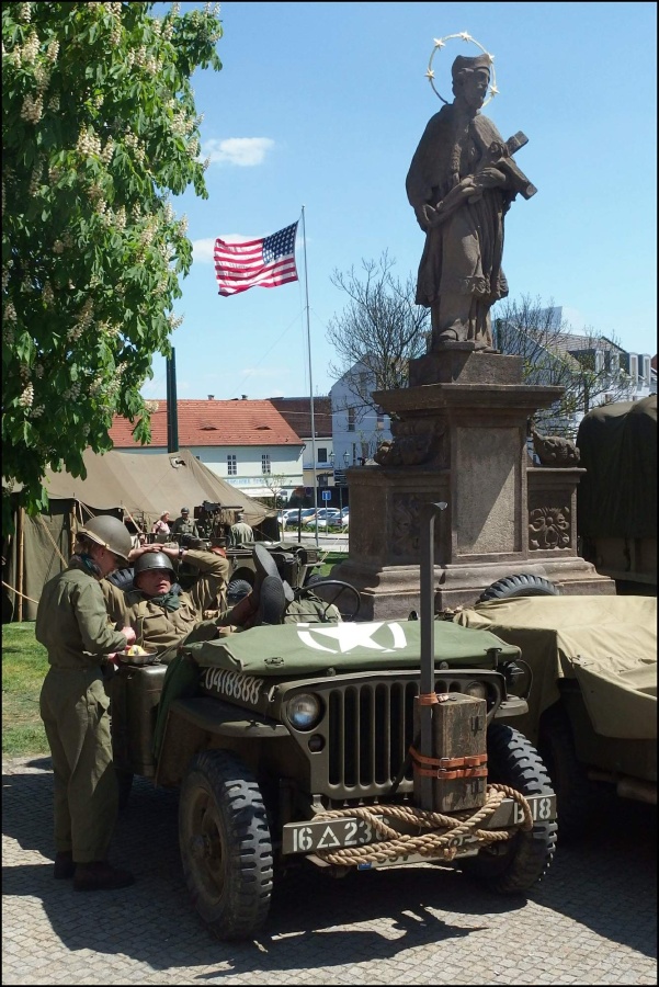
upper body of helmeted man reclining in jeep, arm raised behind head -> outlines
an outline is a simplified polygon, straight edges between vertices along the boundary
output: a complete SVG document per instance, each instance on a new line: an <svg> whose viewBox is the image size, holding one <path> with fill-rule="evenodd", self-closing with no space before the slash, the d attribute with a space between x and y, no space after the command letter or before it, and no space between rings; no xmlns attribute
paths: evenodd
<svg viewBox="0 0 659 987"><path fill-rule="evenodd" d="M133 549L130 560L135 563L133 589L124 591L107 580L101 588L112 620L133 627L139 645L158 650L169 648L197 627L205 610L223 611L227 605L229 561L221 548L205 552L178 545L145 545ZM189 591L177 582L177 560L196 574ZM198 633L203 634L204 628Z"/></svg>

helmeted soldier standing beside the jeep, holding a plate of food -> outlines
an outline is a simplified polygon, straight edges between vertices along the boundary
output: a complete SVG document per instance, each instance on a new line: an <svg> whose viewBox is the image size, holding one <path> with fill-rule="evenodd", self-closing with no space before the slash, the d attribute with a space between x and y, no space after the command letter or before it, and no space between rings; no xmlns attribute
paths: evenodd
<svg viewBox="0 0 659 987"><path fill-rule="evenodd" d="M92 519L68 568L44 586L36 613L36 639L50 666L39 711L55 781L54 876L73 877L76 890L127 887L134 880L106 861L118 791L102 666L135 642L135 632L113 629L100 586L129 552L130 535L117 518Z"/></svg>

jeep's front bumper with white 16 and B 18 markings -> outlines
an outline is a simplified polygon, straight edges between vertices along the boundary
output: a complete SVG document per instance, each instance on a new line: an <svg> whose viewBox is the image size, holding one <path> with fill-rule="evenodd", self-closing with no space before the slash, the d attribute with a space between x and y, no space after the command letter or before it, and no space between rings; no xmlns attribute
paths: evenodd
<svg viewBox="0 0 659 987"><path fill-rule="evenodd" d="M549 821L556 818L555 795L529 795L526 796L534 822ZM405 832L406 828L394 825L394 820L385 815L375 816L383 819L393 828ZM519 825L523 814L518 802L504 798L497 810L481 824L481 829L505 829L509 826ZM407 831L412 830L409 827ZM354 816L345 816L341 819L326 819L323 821L286 822L282 828L282 853L314 853L316 850L337 850L340 847L361 847L364 843L373 843L388 839L377 833L371 822ZM474 842L469 837L461 838L459 844Z"/></svg>

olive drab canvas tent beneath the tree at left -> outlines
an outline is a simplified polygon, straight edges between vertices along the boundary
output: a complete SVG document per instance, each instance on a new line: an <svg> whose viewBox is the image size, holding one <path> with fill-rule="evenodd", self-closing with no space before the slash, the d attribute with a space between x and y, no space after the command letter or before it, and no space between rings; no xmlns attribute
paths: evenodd
<svg viewBox="0 0 659 987"><path fill-rule="evenodd" d="M2 566L2 580L24 594L22 620L35 620L43 585L66 568L72 549L72 532L90 517L144 518L150 531L162 511L169 510L172 518L178 518L182 503L192 510L204 501L240 508L252 527L276 515L260 501L225 483L190 450L178 453L111 450L104 455L87 450L83 461L86 479L69 473L47 472L44 485L49 506L35 518L20 512L18 497L12 494L15 534L4 543L7 563ZM19 487L14 486L14 490L18 492ZM18 585L20 568L21 586ZM18 597L3 587L2 622L18 619Z"/></svg>

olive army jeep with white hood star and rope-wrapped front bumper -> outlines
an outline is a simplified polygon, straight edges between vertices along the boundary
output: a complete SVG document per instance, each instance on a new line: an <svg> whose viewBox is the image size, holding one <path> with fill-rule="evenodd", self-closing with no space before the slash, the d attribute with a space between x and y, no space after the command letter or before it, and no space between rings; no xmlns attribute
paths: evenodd
<svg viewBox="0 0 659 987"><path fill-rule="evenodd" d="M420 622L254 627L126 657L111 681L117 770L180 787L185 881L219 938L255 935L300 866L441 863L500 894L546 872L555 794L502 722L527 710L520 649L435 622L432 595Z"/></svg>

